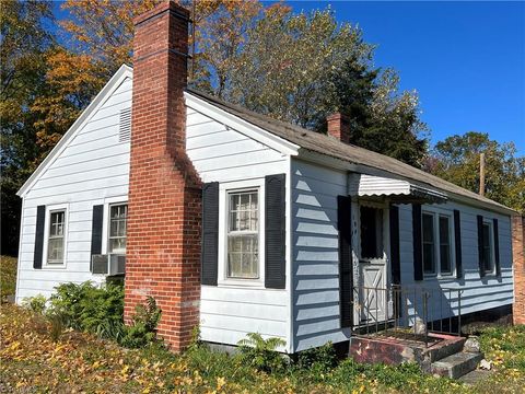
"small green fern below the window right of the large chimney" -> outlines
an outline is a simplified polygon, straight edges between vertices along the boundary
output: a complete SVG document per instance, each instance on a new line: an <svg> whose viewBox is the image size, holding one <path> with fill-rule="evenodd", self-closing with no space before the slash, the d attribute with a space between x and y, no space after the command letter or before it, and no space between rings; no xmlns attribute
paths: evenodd
<svg viewBox="0 0 525 394"><path fill-rule="evenodd" d="M244 362L259 371L278 372L284 369L285 361L276 349L284 344L281 338L265 339L258 333L249 333L237 345Z"/></svg>

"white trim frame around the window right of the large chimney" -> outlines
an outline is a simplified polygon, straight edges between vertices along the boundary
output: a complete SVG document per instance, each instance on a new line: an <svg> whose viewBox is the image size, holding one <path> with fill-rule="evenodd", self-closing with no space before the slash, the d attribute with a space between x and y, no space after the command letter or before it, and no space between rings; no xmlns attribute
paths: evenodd
<svg viewBox="0 0 525 394"><path fill-rule="evenodd" d="M228 194L243 190L257 190L259 194L259 277L254 279L228 277ZM219 184L219 262L217 280L219 287L265 288L265 178Z"/></svg>

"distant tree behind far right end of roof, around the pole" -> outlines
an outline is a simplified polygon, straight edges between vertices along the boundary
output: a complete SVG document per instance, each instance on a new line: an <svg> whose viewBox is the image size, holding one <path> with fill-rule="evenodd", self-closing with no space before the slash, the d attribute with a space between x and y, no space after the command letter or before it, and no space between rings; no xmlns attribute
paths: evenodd
<svg viewBox="0 0 525 394"><path fill-rule="evenodd" d="M479 192L479 154L486 158L486 196L525 212L525 157L513 142L500 143L488 134L469 131L435 144L425 170L471 192Z"/></svg>

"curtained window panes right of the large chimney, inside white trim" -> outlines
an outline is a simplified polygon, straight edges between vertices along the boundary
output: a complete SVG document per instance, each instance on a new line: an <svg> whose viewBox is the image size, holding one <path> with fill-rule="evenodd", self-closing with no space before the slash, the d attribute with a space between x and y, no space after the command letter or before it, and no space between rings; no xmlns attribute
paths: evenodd
<svg viewBox="0 0 525 394"><path fill-rule="evenodd" d="M229 278L259 277L259 204L258 190L228 194L228 267Z"/></svg>

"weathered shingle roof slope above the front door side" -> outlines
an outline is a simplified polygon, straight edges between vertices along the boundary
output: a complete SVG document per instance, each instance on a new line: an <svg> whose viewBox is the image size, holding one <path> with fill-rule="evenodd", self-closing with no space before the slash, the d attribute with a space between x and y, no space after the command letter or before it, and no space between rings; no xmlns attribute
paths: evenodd
<svg viewBox="0 0 525 394"><path fill-rule="evenodd" d="M445 193L451 193L457 196L467 197L476 201L489 204L495 209L499 208L504 210L511 210L510 208L499 202L495 202L489 198L482 197L476 193L454 185L453 183L431 175L422 170L416 169L390 157L376 153L357 146L347 144L331 136L311 131L284 121L276 120L267 115L257 114L242 106L226 103L222 100L219 100L194 89L188 89L188 92L219 107L220 109L235 115L282 139L295 143L302 149L326 154L352 164L360 164L377 169L393 175L413 181L422 186L433 187Z"/></svg>

